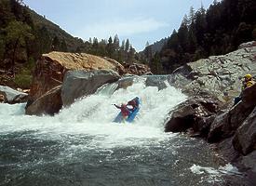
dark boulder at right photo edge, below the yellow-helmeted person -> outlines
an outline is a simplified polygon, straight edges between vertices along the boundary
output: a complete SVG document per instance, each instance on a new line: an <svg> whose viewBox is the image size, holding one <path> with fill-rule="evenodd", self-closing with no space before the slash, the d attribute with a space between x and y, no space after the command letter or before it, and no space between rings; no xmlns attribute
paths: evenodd
<svg viewBox="0 0 256 186"><path fill-rule="evenodd" d="M244 155L256 150L256 107L236 130L233 145Z"/></svg>

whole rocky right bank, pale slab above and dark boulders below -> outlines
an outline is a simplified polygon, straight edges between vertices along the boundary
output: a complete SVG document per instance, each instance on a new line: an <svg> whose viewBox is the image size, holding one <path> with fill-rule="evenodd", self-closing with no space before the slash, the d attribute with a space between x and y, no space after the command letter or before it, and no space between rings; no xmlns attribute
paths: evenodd
<svg viewBox="0 0 256 186"><path fill-rule="evenodd" d="M241 93L242 77L247 73L256 76L255 41L239 46L232 53L197 60L177 69L169 82L180 87L190 98L172 113L166 130L192 130L198 133L195 136L205 137L209 142L218 144L223 159L246 172L247 179L253 179L254 183L256 84ZM241 100L233 106L233 99L240 93ZM198 95L209 95L216 103L220 103L218 109L210 112L200 100L193 100ZM197 112L197 108L201 112Z"/></svg>

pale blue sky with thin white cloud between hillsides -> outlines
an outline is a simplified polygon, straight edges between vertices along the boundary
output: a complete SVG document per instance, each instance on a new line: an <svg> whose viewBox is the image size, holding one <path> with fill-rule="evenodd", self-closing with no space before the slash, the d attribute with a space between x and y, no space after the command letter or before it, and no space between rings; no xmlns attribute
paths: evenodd
<svg viewBox="0 0 256 186"><path fill-rule="evenodd" d="M118 35L137 51L168 37L190 7L208 8L213 0L23 0L75 37L99 40ZM121 42L120 42L121 43Z"/></svg>

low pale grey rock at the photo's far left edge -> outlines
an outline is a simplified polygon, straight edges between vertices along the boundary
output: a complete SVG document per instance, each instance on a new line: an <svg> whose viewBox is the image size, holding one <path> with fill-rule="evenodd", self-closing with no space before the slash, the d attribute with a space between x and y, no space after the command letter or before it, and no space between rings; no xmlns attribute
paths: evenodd
<svg viewBox="0 0 256 186"><path fill-rule="evenodd" d="M28 99L28 94L12 89L8 86L0 86L0 97L1 102L15 104L26 102Z"/></svg>

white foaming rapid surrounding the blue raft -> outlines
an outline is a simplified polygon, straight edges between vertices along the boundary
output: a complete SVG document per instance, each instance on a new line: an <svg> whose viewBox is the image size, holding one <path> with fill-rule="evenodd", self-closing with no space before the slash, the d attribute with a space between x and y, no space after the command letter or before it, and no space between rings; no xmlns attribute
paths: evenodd
<svg viewBox="0 0 256 186"><path fill-rule="evenodd" d="M132 124L113 123L119 113L113 104L126 103L135 97L141 100L140 113L135 121ZM76 100L53 117L24 115L24 104L0 104L0 112L5 113L0 119L0 132L31 130L38 136L47 134L47 138L66 134L97 136L97 145L104 148L139 145L147 139L167 138L170 135L164 133L167 114L185 99L186 96L173 86L158 90L156 86L145 86L144 80L140 79L133 86L120 88L114 94L101 91Z"/></svg>

